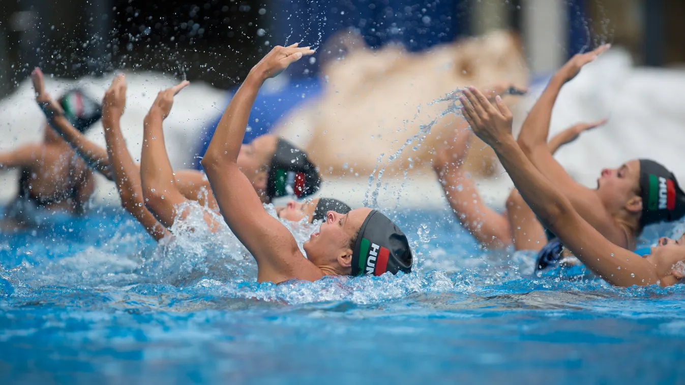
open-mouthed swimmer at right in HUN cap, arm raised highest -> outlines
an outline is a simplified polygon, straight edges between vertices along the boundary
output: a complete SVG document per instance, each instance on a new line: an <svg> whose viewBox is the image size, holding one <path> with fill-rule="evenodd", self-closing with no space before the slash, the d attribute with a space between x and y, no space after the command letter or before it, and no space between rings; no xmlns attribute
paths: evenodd
<svg viewBox="0 0 685 385"><path fill-rule="evenodd" d="M677 220L685 214L685 211L680 209L660 209L658 205L653 204L658 200L658 190L653 188L656 186L651 185L652 180L659 181L662 178L664 181L670 181L673 196L683 196L680 188L677 188L673 174L655 161L636 159L621 165L621 168L603 170L597 181L597 189L589 189L573 181L553 158L553 148L547 144L551 110L560 89L564 83L577 75L582 66L592 62L608 48L608 45L603 45L595 51L575 55L556 72L525 119L518 142L521 150L536 168L564 191L584 220L614 244L634 250L636 237L642 233L645 226ZM602 122L577 127L577 133L596 127ZM571 133L573 137L575 133ZM538 267L562 257L561 243L558 239L551 239L547 243L545 228L515 189L507 201L506 217L495 213L486 219L480 229L499 229L497 237L501 240L501 245L514 243L517 250L542 250L538 258ZM503 230L506 228L510 229L509 237L506 230Z"/></svg>

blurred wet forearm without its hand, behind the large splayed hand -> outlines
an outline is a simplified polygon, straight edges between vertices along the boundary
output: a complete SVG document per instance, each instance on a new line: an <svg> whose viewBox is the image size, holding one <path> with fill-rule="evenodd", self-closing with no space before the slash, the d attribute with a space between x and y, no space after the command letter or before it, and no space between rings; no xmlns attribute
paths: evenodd
<svg viewBox="0 0 685 385"><path fill-rule="evenodd" d="M512 243L506 217L484 204L472 178L461 170L443 170L438 176L457 220L477 241L491 248Z"/></svg>

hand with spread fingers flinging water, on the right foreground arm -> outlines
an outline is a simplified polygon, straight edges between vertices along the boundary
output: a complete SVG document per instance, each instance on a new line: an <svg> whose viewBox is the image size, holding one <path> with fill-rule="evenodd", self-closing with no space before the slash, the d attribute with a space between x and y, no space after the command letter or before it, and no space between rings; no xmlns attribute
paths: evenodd
<svg viewBox="0 0 685 385"><path fill-rule="evenodd" d="M459 100L462 102L464 118L483 142L495 147L508 137L513 139L513 116L499 95L495 96L497 107L493 107L479 90L471 86L464 89L464 95Z"/></svg>

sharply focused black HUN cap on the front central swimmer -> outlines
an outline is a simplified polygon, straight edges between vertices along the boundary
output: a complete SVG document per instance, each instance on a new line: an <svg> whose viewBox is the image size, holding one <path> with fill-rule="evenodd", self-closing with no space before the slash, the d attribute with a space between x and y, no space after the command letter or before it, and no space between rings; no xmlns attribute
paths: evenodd
<svg viewBox="0 0 685 385"><path fill-rule="evenodd" d="M397 225L379 211L371 211L359 229L352 252L352 275L379 276L386 271L412 272L412 250Z"/></svg>

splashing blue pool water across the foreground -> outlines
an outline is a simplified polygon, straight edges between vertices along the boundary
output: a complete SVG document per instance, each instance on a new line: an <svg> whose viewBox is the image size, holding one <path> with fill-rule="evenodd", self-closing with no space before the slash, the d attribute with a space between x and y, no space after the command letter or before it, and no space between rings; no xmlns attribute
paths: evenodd
<svg viewBox="0 0 685 385"><path fill-rule="evenodd" d="M447 210L394 216L412 274L282 285L197 216L162 246L109 207L0 235L0 384L685 383L682 285L538 277Z"/></svg>

